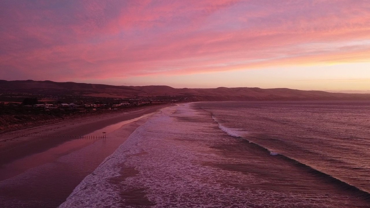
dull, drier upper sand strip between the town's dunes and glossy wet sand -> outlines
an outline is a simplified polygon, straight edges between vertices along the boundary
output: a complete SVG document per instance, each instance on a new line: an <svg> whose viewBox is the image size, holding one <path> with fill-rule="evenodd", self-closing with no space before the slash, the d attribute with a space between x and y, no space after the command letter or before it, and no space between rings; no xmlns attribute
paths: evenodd
<svg viewBox="0 0 370 208"><path fill-rule="evenodd" d="M75 139L68 137L17 137L9 135L9 133L87 135L106 126L117 124L121 121L130 120L132 118L137 118L144 114L153 113L158 109L169 105L173 104L148 106L141 109L132 109L127 112L120 112L117 114L94 115L91 117L76 118L56 124L8 132L7 134L0 135L0 168L4 164L27 157L28 155L44 152L57 145L63 144L66 141ZM98 136L102 136L102 133L100 133Z"/></svg>

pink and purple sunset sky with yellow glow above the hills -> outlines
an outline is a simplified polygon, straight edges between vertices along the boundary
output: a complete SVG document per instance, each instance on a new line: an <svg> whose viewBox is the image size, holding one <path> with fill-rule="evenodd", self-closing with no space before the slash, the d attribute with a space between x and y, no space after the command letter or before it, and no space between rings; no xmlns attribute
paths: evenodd
<svg viewBox="0 0 370 208"><path fill-rule="evenodd" d="M370 93L369 0L2 0L0 79Z"/></svg>

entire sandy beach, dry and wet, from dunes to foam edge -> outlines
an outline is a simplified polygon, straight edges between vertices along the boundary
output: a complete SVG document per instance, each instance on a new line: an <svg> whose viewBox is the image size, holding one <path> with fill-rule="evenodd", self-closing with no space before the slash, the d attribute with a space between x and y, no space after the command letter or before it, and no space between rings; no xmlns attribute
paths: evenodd
<svg viewBox="0 0 370 208"><path fill-rule="evenodd" d="M50 205L49 207L57 206L58 203L60 204L68 197L74 187L86 175L90 174L108 155L112 154L137 127L145 123L149 117L143 117L143 115L153 114L160 108L171 105L173 104L149 106L117 114L76 118L57 124L13 132L19 134L96 136L98 134L102 135L101 132L105 131L107 132L107 138L105 139L1 135L0 182L2 185L0 198L2 200L0 201L3 201L0 203L1 207L4 207L4 205L11 207L15 205L11 205L11 201L22 198L25 201L31 201L43 197L49 198L50 203L47 203ZM121 137L110 139L109 133L118 128L120 128ZM58 158L63 156L71 156L68 159L70 161L58 165ZM78 159L76 160L76 158ZM49 167L41 171L48 164L54 165L52 168ZM42 175L34 174L27 181L22 181L25 178L23 175L35 170L40 170ZM17 183L22 185L15 185ZM30 190L33 191L30 192ZM46 194L46 196L45 192L50 194ZM4 201L4 199L6 200ZM8 199L10 201L7 201ZM27 206L24 205L23 207ZM40 206L40 204L35 205L35 207L37 206ZM48 207L48 205L45 206Z"/></svg>

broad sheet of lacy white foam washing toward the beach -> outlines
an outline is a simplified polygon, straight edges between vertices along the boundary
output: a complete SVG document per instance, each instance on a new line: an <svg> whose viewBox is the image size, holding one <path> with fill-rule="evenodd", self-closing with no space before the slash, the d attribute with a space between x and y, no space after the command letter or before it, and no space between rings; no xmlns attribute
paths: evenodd
<svg viewBox="0 0 370 208"><path fill-rule="evenodd" d="M214 131L215 125L205 122L208 118L185 104L148 120L60 207L137 207L120 195L132 189L145 189L145 197L155 205L142 207L155 208L276 207L277 203L279 207L312 207L322 200L316 195L307 196L316 201L305 201L305 196L294 193L249 189L248 184L267 181L218 168L215 164L242 164L243 160L223 157L221 150L211 148L228 144L229 139L223 132ZM120 130L112 134L119 137ZM128 167L137 174L114 181Z"/></svg>

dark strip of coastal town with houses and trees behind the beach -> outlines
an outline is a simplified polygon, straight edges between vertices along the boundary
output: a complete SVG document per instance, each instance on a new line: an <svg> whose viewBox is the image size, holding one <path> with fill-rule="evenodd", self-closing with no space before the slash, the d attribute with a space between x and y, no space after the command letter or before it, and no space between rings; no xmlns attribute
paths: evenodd
<svg viewBox="0 0 370 208"><path fill-rule="evenodd" d="M26 97L28 96L28 97ZM81 95L0 94L0 132L134 108L187 101L180 96L85 97Z"/></svg>

